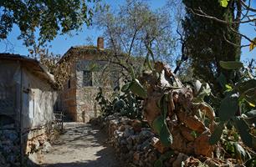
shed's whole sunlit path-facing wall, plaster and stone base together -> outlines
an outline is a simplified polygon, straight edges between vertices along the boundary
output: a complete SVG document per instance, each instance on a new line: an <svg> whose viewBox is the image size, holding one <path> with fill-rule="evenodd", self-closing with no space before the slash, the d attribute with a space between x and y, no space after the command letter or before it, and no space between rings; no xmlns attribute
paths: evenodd
<svg viewBox="0 0 256 167"><path fill-rule="evenodd" d="M48 81L23 67L22 147L28 159L37 163L38 151L49 145L54 133L54 104L57 92Z"/></svg>

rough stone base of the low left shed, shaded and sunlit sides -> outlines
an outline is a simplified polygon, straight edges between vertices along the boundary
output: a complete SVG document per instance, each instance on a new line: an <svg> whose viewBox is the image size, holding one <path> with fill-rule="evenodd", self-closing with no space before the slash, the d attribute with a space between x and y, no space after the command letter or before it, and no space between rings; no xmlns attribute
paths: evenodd
<svg viewBox="0 0 256 167"><path fill-rule="evenodd" d="M20 166L21 161L25 164L38 163L41 153L52 149L51 139L54 139L54 129L30 130L23 134L23 159L21 159L20 134L13 124L2 126L0 129L0 167Z"/></svg>

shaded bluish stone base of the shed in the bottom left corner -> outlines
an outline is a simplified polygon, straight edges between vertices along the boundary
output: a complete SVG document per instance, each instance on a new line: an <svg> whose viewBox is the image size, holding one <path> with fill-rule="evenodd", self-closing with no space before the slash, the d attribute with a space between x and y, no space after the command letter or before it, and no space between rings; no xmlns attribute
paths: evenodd
<svg viewBox="0 0 256 167"><path fill-rule="evenodd" d="M16 130L0 130L0 166L19 166L19 136Z"/></svg>

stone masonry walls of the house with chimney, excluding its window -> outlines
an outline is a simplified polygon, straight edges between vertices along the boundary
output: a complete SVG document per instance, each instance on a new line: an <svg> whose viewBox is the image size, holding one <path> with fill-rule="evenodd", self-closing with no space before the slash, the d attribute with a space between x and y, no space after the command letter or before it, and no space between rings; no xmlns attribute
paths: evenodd
<svg viewBox="0 0 256 167"><path fill-rule="evenodd" d="M78 50L76 50L78 49ZM81 48L83 50L83 48ZM89 52L90 51L90 52ZM116 71L116 65L109 64L108 61L101 60L102 52L98 49L85 50L79 52L79 48L73 48L68 51L70 54L69 61L72 62L70 88L68 88L68 82L66 83L64 90L61 93L61 101L64 112L71 119L78 122L88 122L91 118L95 118L100 114L100 107L95 101L96 95L99 93L99 87L105 89L107 94L112 92L113 81L119 82L119 77L111 78L109 71L102 74L101 71L105 71L105 65L108 65L109 70ZM93 86L84 87L83 85L83 71L92 71ZM116 76L117 74L115 74ZM115 83L117 83L114 81ZM105 86L105 84L113 84L112 87Z"/></svg>

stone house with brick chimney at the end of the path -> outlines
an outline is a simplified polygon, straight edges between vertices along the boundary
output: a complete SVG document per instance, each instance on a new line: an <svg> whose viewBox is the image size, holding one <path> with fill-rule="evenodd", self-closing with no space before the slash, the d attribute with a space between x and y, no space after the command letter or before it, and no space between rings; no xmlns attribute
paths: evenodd
<svg viewBox="0 0 256 167"><path fill-rule="evenodd" d="M71 47L59 63L71 61L70 78L61 94L66 115L78 122L88 122L100 114L95 100L99 87L110 94L120 84L120 67L113 63L110 50L104 49L104 39L98 38L97 47Z"/></svg>

